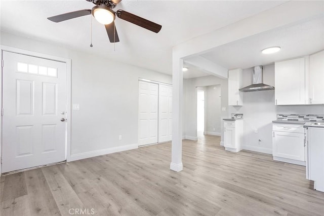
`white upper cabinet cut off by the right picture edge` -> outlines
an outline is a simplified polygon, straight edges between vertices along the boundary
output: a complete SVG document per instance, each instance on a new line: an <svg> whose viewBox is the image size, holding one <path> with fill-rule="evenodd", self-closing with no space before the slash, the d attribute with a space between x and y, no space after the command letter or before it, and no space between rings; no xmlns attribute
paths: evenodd
<svg viewBox="0 0 324 216"><path fill-rule="evenodd" d="M324 50L309 56L309 104L324 103Z"/></svg>

